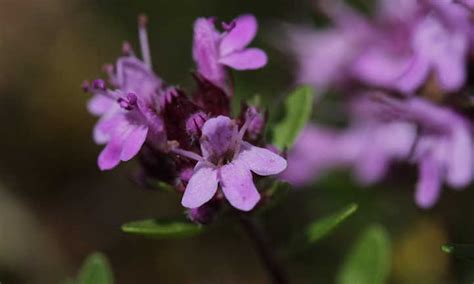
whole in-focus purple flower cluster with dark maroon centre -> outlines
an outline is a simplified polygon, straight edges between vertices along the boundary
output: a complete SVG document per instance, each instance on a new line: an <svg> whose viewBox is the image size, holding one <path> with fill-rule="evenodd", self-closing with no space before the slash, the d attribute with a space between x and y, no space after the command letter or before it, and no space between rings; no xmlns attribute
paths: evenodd
<svg viewBox="0 0 474 284"><path fill-rule="evenodd" d="M160 180L184 191L182 204L197 222L209 219L203 216L224 197L237 209L253 209L260 193L252 172L269 176L286 168L285 159L265 148L261 110L245 105L240 116L229 117L230 69L253 70L267 63L265 52L247 48L257 32L255 17L223 23L222 32L214 18L196 20L192 95L153 72L146 21L139 18L143 59L125 43L123 56L105 67L108 82L83 85L93 95L88 109L99 117L94 140L105 144L99 168L109 170L137 156L141 180Z"/></svg>

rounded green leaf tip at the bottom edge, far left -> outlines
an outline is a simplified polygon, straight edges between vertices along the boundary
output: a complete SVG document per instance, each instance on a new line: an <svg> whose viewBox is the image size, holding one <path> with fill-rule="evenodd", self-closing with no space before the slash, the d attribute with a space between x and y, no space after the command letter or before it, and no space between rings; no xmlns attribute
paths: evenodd
<svg viewBox="0 0 474 284"><path fill-rule="evenodd" d="M109 262L101 253L94 253L87 257L76 281L78 284L112 284L113 282Z"/></svg>

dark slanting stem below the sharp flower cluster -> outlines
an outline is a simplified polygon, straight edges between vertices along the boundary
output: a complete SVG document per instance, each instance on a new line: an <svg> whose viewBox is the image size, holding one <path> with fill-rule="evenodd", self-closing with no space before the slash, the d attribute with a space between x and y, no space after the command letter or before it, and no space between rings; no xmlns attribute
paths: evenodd
<svg viewBox="0 0 474 284"><path fill-rule="evenodd" d="M239 214L240 225L252 240L255 250L265 266L267 273L275 284L288 284L288 277L265 237L262 228L249 216Z"/></svg>

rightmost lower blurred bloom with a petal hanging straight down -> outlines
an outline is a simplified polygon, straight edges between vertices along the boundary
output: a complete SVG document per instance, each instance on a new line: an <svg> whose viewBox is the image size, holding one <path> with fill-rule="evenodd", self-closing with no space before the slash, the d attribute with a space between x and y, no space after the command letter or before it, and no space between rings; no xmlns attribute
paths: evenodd
<svg viewBox="0 0 474 284"><path fill-rule="evenodd" d="M443 182L452 188L467 186L474 175L472 125L454 111L418 98L396 107L419 129L412 157L419 171L417 204L433 206Z"/></svg>

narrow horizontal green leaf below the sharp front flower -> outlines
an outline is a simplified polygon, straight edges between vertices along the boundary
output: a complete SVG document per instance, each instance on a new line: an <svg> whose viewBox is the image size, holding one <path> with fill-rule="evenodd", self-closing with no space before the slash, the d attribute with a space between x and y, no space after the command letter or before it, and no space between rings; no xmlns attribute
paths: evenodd
<svg viewBox="0 0 474 284"><path fill-rule="evenodd" d="M201 233L202 230L201 225L169 219L147 219L122 225L122 231L125 233L153 238L190 237Z"/></svg>

